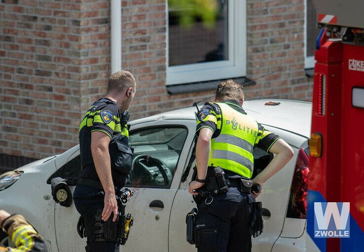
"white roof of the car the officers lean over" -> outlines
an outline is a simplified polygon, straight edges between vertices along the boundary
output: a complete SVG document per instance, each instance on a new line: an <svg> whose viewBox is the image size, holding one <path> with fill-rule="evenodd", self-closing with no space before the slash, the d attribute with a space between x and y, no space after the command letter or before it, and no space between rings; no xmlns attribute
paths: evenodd
<svg viewBox="0 0 364 252"><path fill-rule="evenodd" d="M280 103L266 106L267 102ZM202 106L199 106L201 108ZM277 127L296 134L310 137L312 104L308 102L261 99L244 101L243 108L261 124ZM154 120L196 120L196 107L181 108L134 120L131 124L139 124Z"/></svg>

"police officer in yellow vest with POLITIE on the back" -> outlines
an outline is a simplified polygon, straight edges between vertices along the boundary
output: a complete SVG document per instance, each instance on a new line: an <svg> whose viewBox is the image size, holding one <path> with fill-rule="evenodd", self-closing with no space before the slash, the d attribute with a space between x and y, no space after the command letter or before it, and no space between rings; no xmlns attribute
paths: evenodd
<svg viewBox="0 0 364 252"><path fill-rule="evenodd" d="M253 148L277 154L252 180L260 188L293 156L285 141L244 111L243 102L242 85L230 79L218 85L215 103L205 104L198 113L197 178L190 183L189 192L197 195L196 189L205 185L214 167L223 169L229 185L225 193L212 194L212 198L197 202L195 233L199 252L251 251L249 228L255 198L261 189L247 193L249 187L245 188L241 181L249 181L253 175Z"/></svg>

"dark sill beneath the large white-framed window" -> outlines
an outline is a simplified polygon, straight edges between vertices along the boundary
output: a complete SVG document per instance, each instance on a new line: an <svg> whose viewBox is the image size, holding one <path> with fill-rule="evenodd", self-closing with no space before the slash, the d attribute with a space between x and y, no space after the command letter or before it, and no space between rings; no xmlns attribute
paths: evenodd
<svg viewBox="0 0 364 252"><path fill-rule="evenodd" d="M251 81L251 79L247 77L237 77L231 78L236 82L243 84ZM218 87L222 81L226 79L217 79L217 80L208 80L208 81L199 81L199 82L191 82L191 83L183 83L183 84L175 84L175 85L167 85L167 92L169 95L179 95L185 93L192 93L192 92L201 92L201 91L208 91L213 90ZM255 85L255 81L250 82L244 86L253 86Z"/></svg>

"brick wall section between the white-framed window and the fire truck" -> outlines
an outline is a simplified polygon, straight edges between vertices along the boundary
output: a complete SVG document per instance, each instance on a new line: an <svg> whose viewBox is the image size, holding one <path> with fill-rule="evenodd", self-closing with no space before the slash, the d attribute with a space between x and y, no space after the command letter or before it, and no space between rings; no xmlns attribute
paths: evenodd
<svg viewBox="0 0 364 252"><path fill-rule="evenodd" d="M304 0L247 0L247 75L282 71L247 87L246 97L310 101L304 72Z"/></svg>

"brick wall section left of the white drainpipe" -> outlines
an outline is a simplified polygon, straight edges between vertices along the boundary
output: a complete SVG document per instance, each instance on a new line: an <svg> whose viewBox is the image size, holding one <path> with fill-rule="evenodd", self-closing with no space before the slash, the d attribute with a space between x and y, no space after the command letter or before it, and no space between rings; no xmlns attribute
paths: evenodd
<svg viewBox="0 0 364 252"><path fill-rule="evenodd" d="M104 92L109 3L3 0L0 11L0 153L61 153L78 142L83 96Z"/></svg>

